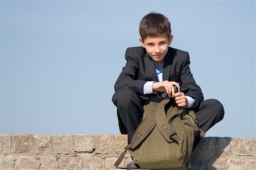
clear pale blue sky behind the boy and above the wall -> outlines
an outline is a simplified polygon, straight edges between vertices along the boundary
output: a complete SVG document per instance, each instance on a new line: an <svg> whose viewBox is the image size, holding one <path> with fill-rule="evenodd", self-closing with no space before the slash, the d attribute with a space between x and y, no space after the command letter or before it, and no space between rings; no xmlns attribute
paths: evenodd
<svg viewBox="0 0 256 170"><path fill-rule="evenodd" d="M207 136L255 138L255 1L1 1L3 134L119 134L112 103L139 22L167 16L205 99Z"/></svg>

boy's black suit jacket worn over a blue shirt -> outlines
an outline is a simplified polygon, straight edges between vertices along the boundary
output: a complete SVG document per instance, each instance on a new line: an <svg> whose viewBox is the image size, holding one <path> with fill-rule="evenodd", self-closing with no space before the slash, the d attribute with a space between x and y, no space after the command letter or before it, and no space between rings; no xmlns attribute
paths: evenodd
<svg viewBox="0 0 256 170"><path fill-rule="evenodd" d="M115 91L121 88L131 88L144 99L151 95L143 94L143 85L147 81L158 81L154 63L150 56L147 55L146 49L143 47L127 48L125 53L127 63L117 81L115 82ZM168 52L164 57L163 65L163 80L175 81L180 84L180 91L185 96L190 96L195 99L196 107L204 100L203 93L200 87L196 84L191 71L189 69L188 52L180 51L175 48L168 48ZM119 117L118 117L119 119ZM122 127L119 120L119 127L122 134L125 134L125 128Z"/></svg>

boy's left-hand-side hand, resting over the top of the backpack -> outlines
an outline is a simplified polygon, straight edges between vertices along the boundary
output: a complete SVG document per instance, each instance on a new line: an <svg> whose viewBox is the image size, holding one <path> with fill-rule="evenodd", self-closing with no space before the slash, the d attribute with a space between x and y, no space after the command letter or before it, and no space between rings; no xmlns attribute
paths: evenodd
<svg viewBox="0 0 256 170"><path fill-rule="evenodd" d="M153 90L158 92L166 92L168 96L175 97L175 89L174 86L177 86L177 88L180 88L180 85L177 84L175 81L168 81L164 80L161 82L154 82L152 85Z"/></svg>

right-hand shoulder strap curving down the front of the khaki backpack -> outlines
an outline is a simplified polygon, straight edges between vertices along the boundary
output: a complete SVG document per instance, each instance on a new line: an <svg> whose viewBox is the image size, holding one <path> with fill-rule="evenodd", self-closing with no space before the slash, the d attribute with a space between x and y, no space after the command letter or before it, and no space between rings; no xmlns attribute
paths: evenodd
<svg viewBox="0 0 256 170"><path fill-rule="evenodd" d="M174 140L176 140L176 142L180 142L180 138L179 136L177 136L175 128L169 123L169 120L166 117L164 107L168 102L170 102L170 98L166 98L162 102L160 102L155 114L156 124L158 125L161 134L164 136L167 142L171 143L174 142ZM183 110L178 110L178 113L176 113L175 115L180 114L182 111Z"/></svg>

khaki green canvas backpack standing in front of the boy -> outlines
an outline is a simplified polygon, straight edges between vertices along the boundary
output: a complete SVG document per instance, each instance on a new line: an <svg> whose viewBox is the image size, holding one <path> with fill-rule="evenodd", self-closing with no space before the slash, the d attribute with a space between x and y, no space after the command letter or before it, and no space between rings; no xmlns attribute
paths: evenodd
<svg viewBox="0 0 256 170"><path fill-rule="evenodd" d="M143 121L134 132L129 150L133 162L142 169L188 169L197 127L191 109L177 107L174 98L151 97L144 105ZM126 151L115 162L123 160Z"/></svg>

